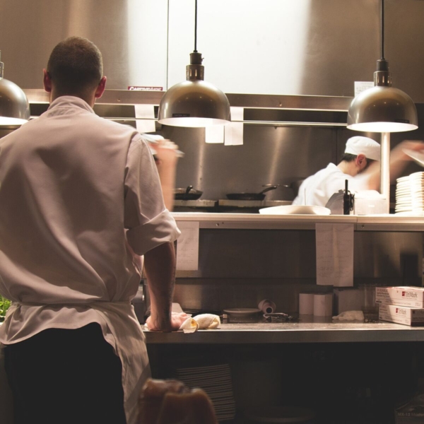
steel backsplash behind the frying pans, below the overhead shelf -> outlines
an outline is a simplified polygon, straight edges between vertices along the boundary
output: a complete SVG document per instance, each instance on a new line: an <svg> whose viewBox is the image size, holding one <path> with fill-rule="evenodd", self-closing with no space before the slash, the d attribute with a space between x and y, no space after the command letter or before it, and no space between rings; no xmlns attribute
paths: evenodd
<svg viewBox="0 0 424 424"><path fill-rule="evenodd" d="M329 128L245 125L242 146L204 142L204 129L164 127L162 133L186 153L179 160L177 187L193 185L202 199L226 199L227 193L261 192L263 184L289 184L336 160L336 131ZM267 200L290 200L279 187Z"/></svg>

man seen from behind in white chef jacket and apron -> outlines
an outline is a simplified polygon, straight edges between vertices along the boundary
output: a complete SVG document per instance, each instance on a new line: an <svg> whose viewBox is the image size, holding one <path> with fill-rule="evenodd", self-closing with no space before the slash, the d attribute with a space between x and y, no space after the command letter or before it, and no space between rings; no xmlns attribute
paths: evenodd
<svg viewBox="0 0 424 424"><path fill-rule="evenodd" d="M150 375L131 306L144 255L151 330L174 331L173 242L143 136L98 117L95 45L70 37L44 71L47 112L0 139L0 293L15 423L135 424Z"/></svg>

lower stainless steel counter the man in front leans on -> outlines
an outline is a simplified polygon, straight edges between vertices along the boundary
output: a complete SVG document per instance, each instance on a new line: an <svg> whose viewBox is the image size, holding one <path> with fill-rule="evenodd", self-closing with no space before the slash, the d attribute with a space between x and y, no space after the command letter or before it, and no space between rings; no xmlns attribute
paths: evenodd
<svg viewBox="0 0 424 424"><path fill-rule="evenodd" d="M185 334L145 331L147 343L259 344L424 341L424 327L390 322L221 324L219 329Z"/></svg>

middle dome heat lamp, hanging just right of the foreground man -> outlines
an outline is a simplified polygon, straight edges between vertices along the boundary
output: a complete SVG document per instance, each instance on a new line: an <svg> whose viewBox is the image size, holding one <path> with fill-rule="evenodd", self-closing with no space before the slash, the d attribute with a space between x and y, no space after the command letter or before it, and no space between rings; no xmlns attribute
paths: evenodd
<svg viewBox="0 0 424 424"><path fill-rule="evenodd" d="M203 58L197 52L197 0L195 1L194 52L186 67L187 81L175 84L160 100L158 122L171 126L203 127L228 124L231 120L227 96L204 81Z"/></svg>

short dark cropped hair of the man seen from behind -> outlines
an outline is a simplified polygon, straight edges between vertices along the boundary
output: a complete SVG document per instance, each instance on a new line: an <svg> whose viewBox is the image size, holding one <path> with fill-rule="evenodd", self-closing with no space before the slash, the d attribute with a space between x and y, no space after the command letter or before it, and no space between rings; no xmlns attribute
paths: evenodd
<svg viewBox="0 0 424 424"><path fill-rule="evenodd" d="M100 83L103 76L102 53L86 38L66 38L52 50L47 72L61 95L81 93Z"/></svg>

